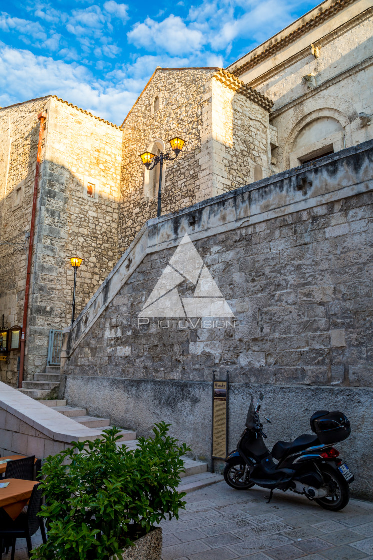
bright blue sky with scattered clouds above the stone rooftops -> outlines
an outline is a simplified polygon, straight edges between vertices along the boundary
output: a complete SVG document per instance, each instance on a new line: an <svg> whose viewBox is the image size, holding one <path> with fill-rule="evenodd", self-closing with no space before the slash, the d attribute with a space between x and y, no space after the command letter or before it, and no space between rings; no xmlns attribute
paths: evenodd
<svg viewBox="0 0 373 560"><path fill-rule="evenodd" d="M121 124L155 67L226 67L317 3L2 0L0 106L53 94Z"/></svg>

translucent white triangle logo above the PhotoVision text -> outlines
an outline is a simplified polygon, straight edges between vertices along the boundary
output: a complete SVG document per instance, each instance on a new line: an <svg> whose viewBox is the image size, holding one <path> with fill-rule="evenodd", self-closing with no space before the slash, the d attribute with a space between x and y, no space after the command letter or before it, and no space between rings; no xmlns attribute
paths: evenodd
<svg viewBox="0 0 373 560"><path fill-rule="evenodd" d="M192 282L193 297L180 298L177 286ZM234 317L188 234L172 255L139 317Z"/></svg>

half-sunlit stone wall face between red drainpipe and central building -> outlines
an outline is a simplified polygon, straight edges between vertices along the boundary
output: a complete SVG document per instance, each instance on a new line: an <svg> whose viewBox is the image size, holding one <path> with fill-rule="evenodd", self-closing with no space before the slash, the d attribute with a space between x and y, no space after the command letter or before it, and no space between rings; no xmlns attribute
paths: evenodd
<svg viewBox="0 0 373 560"><path fill-rule="evenodd" d="M51 99L40 182L34 291L27 374L46 365L50 328L71 321L74 274L69 257L84 259L77 274L75 316L117 261L122 132ZM87 183L96 197L87 194Z"/></svg>

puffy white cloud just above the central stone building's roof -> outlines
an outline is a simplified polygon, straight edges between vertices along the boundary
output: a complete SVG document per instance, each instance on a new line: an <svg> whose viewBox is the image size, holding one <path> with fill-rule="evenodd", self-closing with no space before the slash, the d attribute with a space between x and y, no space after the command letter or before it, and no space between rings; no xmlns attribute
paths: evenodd
<svg viewBox="0 0 373 560"><path fill-rule="evenodd" d="M136 24L128 34L128 40L137 47L180 56L201 49L202 33L187 27L181 17L168 16L161 22L149 17L143 24Z"/></svg>

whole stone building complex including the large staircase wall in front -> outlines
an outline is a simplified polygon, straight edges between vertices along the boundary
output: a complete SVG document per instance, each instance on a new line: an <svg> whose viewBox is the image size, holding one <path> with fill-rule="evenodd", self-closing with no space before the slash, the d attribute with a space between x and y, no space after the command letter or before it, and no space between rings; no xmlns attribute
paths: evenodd
<svg viewBox="0 0 373 560"><path fill-rule="evenodd" d="M325 0L226 70L157 68L120 128L53 96L0 111L0 244L28 231L37 114L48 114L29 377L45 366L49 329L69 324L76 251L85 259L78 312L87 305L66 329L61 396L140 435L170 422L209 459L211 375L229 371L230 446L259 390L277 421L273 442L306 431L317 408L342 409L353 434L344 456L355 492L368 495L370 475L355 458L371 436L371 17L369 0ZM155 218L159 175L139 155L169 151L174 136L186 145L164 167ZM138 324L186 233L234 326ZM12 326L26 253L0 250ZM10 358L0 372L16 384Z"/></svg>

